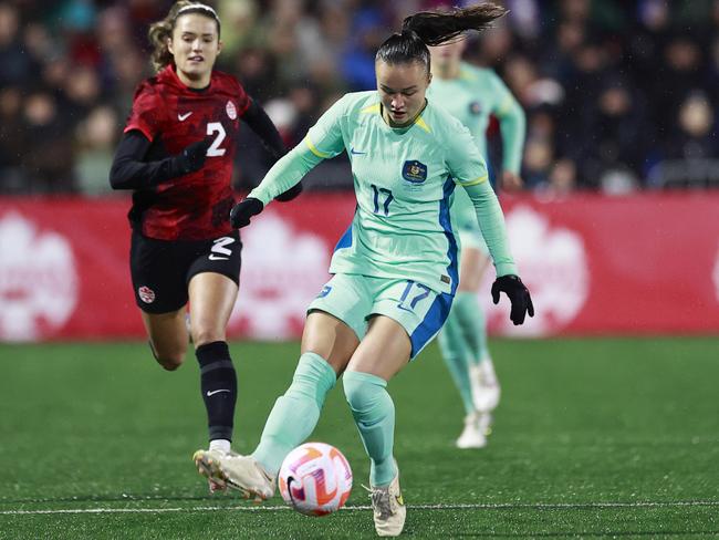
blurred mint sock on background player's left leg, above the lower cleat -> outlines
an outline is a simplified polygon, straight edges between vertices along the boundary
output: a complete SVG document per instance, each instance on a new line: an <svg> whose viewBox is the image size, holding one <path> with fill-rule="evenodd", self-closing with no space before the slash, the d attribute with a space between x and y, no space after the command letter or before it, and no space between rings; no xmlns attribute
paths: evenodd
<svg viewBox="0 0 719 540"><path fill-rule="evenodd" d="M457 299L455 299L456 301ZM449 311L449 316L447 316L444 326L439 331L439 335L437 335L437 343L441 351L441 357L445 364L447 364L449 374L455 382L455 386L459 391L459 396L465 406L465 414L470 414L475 411L472 388L469 382L469 357L471 356L471 352L459 324L459 316L457 315L454 303Z"/></svg>

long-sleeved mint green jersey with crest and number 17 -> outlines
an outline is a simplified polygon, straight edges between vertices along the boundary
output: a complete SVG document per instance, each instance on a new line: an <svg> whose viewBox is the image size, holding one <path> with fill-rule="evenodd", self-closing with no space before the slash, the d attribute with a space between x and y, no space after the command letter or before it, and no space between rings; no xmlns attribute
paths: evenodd
<svg viewBox="0 0 719 540"><path fill-rule="evenodd" d="M498 274L515 273L484 160L467 128L431 103L410 126L393 128L376 91L346 94L249 197L267 204L319 160L345 150L357 206L331 273L413 280L454 293L458 239L449 209L458 185L473 194Z"/></svg>

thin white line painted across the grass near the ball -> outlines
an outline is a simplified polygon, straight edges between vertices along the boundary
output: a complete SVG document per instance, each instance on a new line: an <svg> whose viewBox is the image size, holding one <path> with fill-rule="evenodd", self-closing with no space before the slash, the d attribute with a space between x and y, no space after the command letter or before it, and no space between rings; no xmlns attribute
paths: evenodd
<svg viewBox="0 0 719 540"><path fill-rule="evenodd" d="M716 500L679 500L668 502L559 502L559 503L486 503L486 505L407 505L410 510L507 510L507 509L597 509L597 508L671 508L671 507L719 507ZM344 507L341 511L365 511L371 506ZM286 506L256 507L187 507L187 508L61 508L56 510L0 510L0 516L53 515L53 513L169 513L169 512L216 512L216 511L283 511Z"/></svg>

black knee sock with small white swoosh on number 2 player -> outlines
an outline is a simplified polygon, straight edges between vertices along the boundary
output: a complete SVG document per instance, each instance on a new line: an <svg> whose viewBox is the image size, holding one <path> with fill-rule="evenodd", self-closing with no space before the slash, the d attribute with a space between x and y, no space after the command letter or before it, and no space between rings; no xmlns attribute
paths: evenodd
<svg viewBox="0 0 719 540"><path fill-rule="evenodd" d="M197 347L195 355L200 364L200 388L207 408L210 440L232 440L237 375L227 343L206 343Z"/></svg>

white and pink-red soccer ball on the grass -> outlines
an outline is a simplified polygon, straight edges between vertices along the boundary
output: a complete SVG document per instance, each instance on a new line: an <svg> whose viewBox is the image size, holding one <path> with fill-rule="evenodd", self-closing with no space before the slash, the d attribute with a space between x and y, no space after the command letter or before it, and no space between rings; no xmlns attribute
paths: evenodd
<svg viewBox="0 0 719 540"><path fill-rule="evenodd" d="M288 454L279 476L280 494L305 516L326 516L342 506L352 490L352 469L334 446L305 443Z"/></svg>

